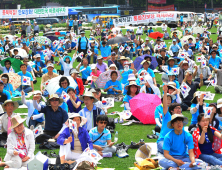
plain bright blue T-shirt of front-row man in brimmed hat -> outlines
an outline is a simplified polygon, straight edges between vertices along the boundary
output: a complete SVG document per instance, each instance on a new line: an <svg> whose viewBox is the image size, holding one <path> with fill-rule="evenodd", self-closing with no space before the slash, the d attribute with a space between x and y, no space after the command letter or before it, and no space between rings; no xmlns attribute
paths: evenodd
<svg viewBox="0 0 222 170"><path fill-rule="evenodd" d="M189 132L184 130L180 135L175 134L174 130L171 130L164 138L163 150L169 151L171 156L189 157L187 149L189 151L193 148L193 137Z"/></svg>

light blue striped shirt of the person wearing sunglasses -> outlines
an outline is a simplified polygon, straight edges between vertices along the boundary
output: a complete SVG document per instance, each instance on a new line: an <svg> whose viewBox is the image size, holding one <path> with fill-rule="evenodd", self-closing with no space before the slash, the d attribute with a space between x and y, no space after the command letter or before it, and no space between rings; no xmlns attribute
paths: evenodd
<svg viewBox="0 0 222 170"><path fill-rule="evenodd" d="M102 133L104 133L103 136L99 140L97 140L95 143L93 143L94 145L106 146L107 140L111 140L111 133L108 129L104 128ZM89 131L89 136L90 136L91 141L93 142L94 140L99 138L101 134L98 132L97 127L94 127L93 129Z"/></svg>

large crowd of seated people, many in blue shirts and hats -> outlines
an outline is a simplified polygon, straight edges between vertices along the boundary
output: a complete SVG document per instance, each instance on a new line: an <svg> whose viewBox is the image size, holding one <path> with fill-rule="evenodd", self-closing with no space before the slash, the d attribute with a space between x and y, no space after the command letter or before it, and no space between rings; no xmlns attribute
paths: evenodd
<svg viewBox="0 0 222 170"><path fill-rule="evenodd" d="M42 126L44 134L56 139L60 145L61 164L78 159L88 147L95 149L102 157L112 157L114 153L118 156L118 148L111 141L111 132L106 128L109 109L104 109L101 99L114 98L115 102L123 103L124 110L131 111L130 100L139 93L157 95L161 99L154 115L155 134L148 135L148 138L158 138L157 149L162 154L160 166L186 170L196 169L196 165L203 162L222 166L222 99L217 103L206 103L204 94L198 95L200 87L213 85L212 81L215 80L215 93L222 93L221 34L213 40L205 26L203 28L195 23L203 32L197 33L194 38L194 26L182 22L182 37L189 36L186 41L183 39L181 42L180 31L176 28L170 30L166 24L162 25L163 36L151 40L152 27L143 29L139 26L136 31L132 27L123 34L121 29L114 27L112 18L106 29L101 29L99 21L94 20L89 37L82 28L78 37L78 23L76 19L70 19L67 21L69 30L65 38L52 44L38 43L35 39L39 32L34 29L31 30L34 34L29 34L25 31L25 24L21 37L14 36L11 41L6 36L0 40L2 52L7 52L9 58L22 61L17 72L21 81L24 76L30 78L30 85L13 89L9 83L10 73L15 72L11 60L5 59L4 65L0 66L3 72L0 103L4 110L0 117L0 140L7 140L7 154L0 166L27 166L34 157L33 130L38 126ZM59 34L58 31L55 33ZM142 35L147 37L143 39ZM128 41L110 44L110 39L119 36L128 38ZM27 57L19 56L19 48L26 50ZM73 55L70 56L70 53ZM140 67L135 68L134 60L141 56ZM204 66L198 64L198 56L205 62ZM55 60L56 57L59 60ZM73 67L74 62L78 64L76 67ZM175 72L175 69L178 71ZM97 80L104 72L107 72L110 80L104 88L98 88ZM157 74L165 75L167 82L157 81ZM61 76L59 88L55 93L50 93L47 84L58 76ZM34 84L39 80L40 87L35 89ZM77 85L75 89L71 80ZM181 88L184 83L190 89L187 95L183 94ZM90 89L86 90L84 86L90 86ZM163 94L160 87L163 87ZM29 92L33 97L27 100ZM68 100L64 100L64 93L69 96ZM17 96L21 96L21 101L12 101ZM48 97L47 101L45 97ZM28 108L27 118L15 113L21 104ZM212 112L206 117L205 108L209 107ZM191 122L183 116L182 111L190 112ZM138 121L133 115L129 120L132 119ZM70 129L70 120L76 122L77 133ZM118 122L118 118L115 122ZM188 123L190 125L186 130Z"/></svg>

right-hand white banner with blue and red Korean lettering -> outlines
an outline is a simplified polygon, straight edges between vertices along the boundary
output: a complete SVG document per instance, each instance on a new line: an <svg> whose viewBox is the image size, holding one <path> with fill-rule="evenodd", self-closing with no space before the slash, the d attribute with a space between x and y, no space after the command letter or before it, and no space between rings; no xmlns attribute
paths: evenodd
<svg viewBox="0 0 222 170"><path fill-rule="evenodd" d="M157 13L147 15L135 15L114 19L115 26L125 26L129 24L149 23L156 21L176 21L177 13Z"/></svg>

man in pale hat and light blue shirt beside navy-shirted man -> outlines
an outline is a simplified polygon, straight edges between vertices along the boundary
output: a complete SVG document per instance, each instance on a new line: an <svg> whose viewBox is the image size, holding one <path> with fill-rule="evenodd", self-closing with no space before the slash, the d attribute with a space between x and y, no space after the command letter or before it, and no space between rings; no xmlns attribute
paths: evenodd
<svg viewBox="0 0 222 170"><path fill-rule="evenodd" d="M89 131L96 126L96 117L105 113L102 109L97 108L94 105L94 103L96 103L98 100L94 97L92 92L87 91L79 99L85 104L85 107L79 112L80 116L87 119L87 122L83 127Z"/></svg>

